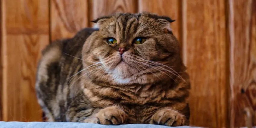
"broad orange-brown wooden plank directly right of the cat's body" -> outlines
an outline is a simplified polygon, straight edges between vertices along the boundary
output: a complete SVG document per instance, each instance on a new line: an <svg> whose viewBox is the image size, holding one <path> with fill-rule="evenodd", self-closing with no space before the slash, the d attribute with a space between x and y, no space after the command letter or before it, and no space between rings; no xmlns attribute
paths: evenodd
<svg viewBox="0 0 256 128"><path fill-rule="evenodd" d="M227 126L225 3L183 0L183 58L191 80L190 125Z"/></svg>

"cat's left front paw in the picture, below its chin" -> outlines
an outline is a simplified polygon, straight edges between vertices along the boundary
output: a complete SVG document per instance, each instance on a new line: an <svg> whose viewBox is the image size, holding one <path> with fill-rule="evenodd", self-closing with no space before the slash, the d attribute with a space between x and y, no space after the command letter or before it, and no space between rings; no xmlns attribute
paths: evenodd
<svg viewBox="0 0 256 128"><path fill-rule="evenodd" d="M96 114L96 123L105 125L124 124L127 119L127 114L118 107L112 106L101 109Z"/></svg>

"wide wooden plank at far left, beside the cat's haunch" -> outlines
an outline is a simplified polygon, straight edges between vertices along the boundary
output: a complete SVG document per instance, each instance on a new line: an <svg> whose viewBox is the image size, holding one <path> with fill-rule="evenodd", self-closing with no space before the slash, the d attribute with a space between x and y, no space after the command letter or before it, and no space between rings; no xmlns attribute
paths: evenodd
<svg viewBox="0 0 256 128"><path fill-rule="evenodd" d="M34 85L48 26L48 1L2 0L4 121L41 120Z"/></svg>

